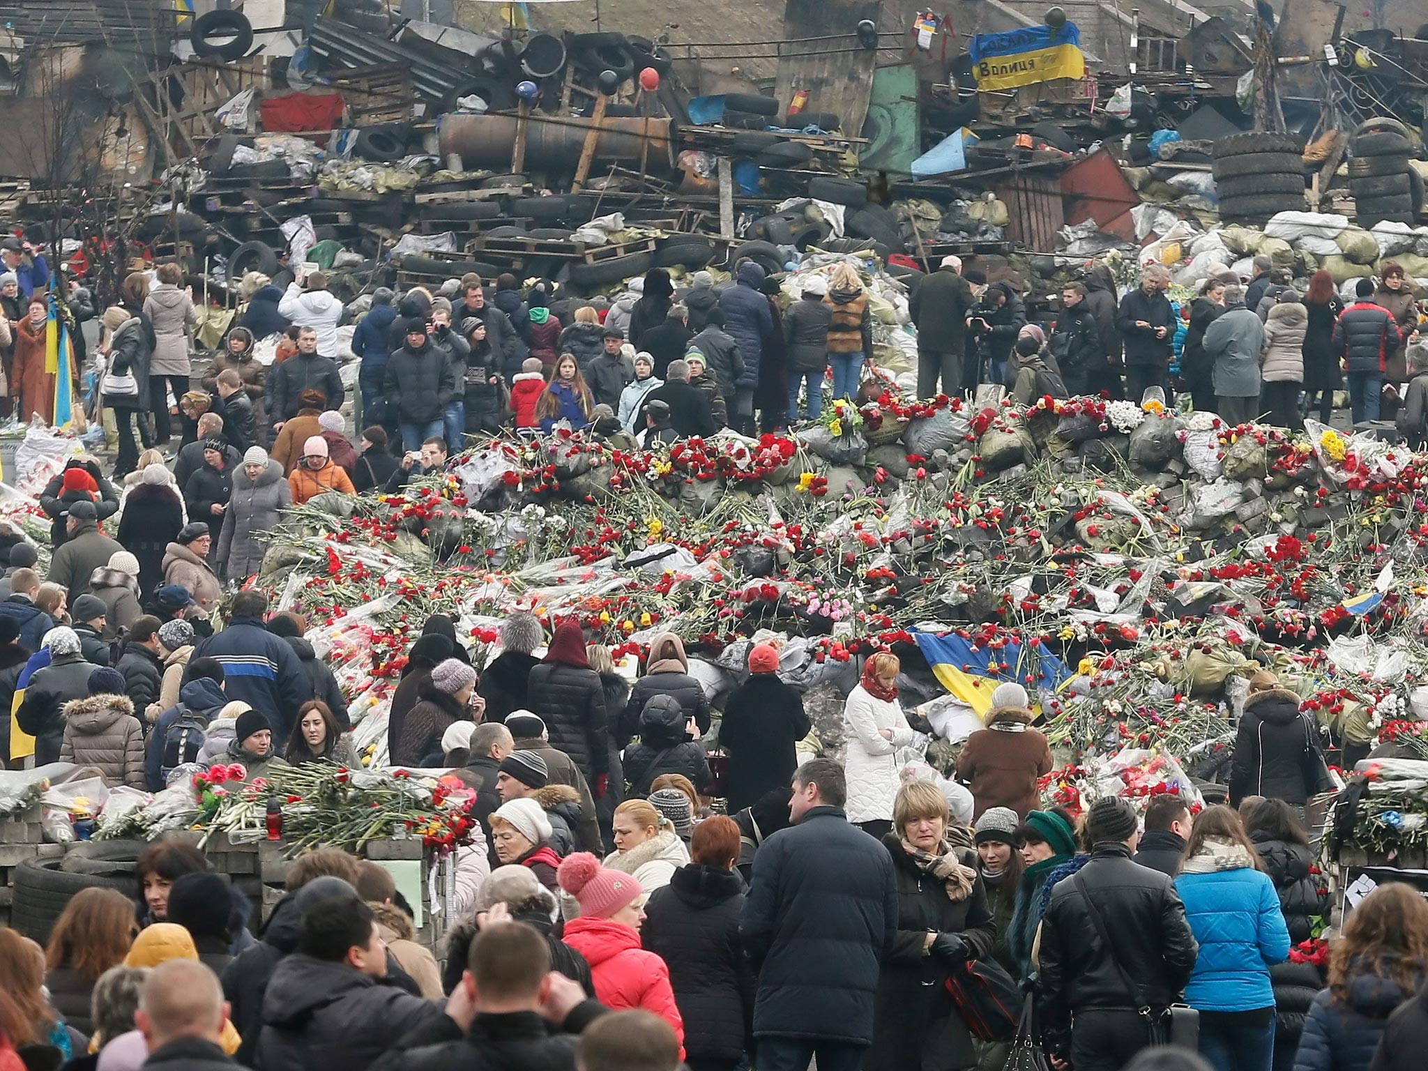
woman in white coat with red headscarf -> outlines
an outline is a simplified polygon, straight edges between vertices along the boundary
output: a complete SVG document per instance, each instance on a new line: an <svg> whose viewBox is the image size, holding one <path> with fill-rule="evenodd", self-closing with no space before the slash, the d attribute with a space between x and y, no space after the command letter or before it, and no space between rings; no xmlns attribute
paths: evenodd
<svg viewBox="0 0 1428 1071"><path fill-rule="evenodd" d="M917 735L897 701L901 668L897 655L874 654L864 663L863 681L848 693L843 708L848 821L880 840L892 830L892 800L901 785L897 750Z"/></svg>

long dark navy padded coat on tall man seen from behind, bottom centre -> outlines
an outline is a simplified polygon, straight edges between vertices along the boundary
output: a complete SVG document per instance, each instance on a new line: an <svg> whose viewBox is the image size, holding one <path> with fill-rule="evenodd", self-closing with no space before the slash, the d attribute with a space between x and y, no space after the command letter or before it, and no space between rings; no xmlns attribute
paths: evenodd
<svg viewBox="0 0 1428 1071"><path fill-rule="evenodd" d="M871 1044L897 920L892 858L841 808L814 807L764 841L738 920L760 972L754 1035Z"/></svg>

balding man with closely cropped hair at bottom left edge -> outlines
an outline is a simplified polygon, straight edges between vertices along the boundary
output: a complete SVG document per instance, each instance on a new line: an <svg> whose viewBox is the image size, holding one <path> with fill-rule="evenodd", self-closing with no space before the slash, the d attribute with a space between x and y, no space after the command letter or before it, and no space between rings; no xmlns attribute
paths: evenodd
<svg viewBox="0 0 1428 1071"><path fill-rule="evenodd" d="M221 1047L228 1002L218 978L201 962L170 960L144 982L134 1022L149 1044L144 1067L180 1064L184 1071L236 1068Z"/></svg>

